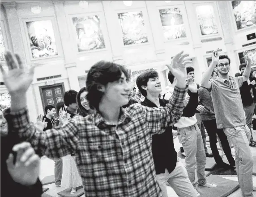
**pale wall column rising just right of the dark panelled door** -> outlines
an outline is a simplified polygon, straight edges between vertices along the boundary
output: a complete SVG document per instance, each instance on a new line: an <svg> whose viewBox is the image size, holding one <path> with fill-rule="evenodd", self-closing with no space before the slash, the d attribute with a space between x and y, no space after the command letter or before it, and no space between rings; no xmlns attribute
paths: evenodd
<svg viewBox="0 0 256 197"><path fill-rule="evenodd" d="M71 39L71 35L69 34L68 29L68 19L65 15L65 9L64 9L64 1L52 1L55 8L55 15L57 18L57 23L59 27L60 32L60 39L62 41L62 48L64 53L64 59L65 59L65 68L67 69L68 79L69 79L69 85L70 89L79 91L79 82L77 78L77 64L76 64L76 57L77 54L75 53L75 50L73 49L73 43ZM75 57L75 58L74 58Z"/></svg>

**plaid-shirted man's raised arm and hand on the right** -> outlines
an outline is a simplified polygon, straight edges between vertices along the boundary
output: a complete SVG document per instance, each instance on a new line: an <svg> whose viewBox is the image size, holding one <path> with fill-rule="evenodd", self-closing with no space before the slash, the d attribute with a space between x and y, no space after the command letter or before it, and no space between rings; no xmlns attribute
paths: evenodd
<svg viewBox="0 0 256 197"><path fill-rule="evenodd" d="M166 65L177 79L173 95L166 107L151 108L133 105L134 108L142 112L145 124L153 135L165 131L166 127L170 127L178 122L182 115L184 100L187 94L187 89L185 88L187 77L186 64L191 63L191 61L184 61L184 58L188 55L182 55L182 53L180 52L175 55L171 61L171 65Z"/></svg>

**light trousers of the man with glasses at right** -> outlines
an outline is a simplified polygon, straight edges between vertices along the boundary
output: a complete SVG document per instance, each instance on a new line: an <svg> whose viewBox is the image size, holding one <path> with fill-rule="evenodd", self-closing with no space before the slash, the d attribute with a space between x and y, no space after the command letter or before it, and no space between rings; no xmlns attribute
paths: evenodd
<svg viewBox="0 0 256 197"><path fill-rule="evenodd" d="M235 166L243 197L253 197L252 170L253 159L249 148L251 133L247 125L223 129L235 147Z"/></svg>

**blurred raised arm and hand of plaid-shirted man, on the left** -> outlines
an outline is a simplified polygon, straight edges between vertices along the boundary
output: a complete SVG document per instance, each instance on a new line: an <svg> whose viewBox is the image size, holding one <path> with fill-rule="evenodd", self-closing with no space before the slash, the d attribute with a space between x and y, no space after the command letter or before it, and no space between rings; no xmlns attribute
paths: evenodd
<svg viewBox="0 0 256 197"><path fill-rule="evenodd" d="M70 121L64 127L38 131L30 123L26 103L26 91L34 77L34 68L28 69L22 64L18 55L5 54L9 70L1 66L4 83L11 95L11 108L5 111L9 130L17 132L22 140L29 141L39 156L60 157L71 153L77 148L78 131L82 129L82 121L78 119ZM83 123L84 124L84 123Z"/></svg>

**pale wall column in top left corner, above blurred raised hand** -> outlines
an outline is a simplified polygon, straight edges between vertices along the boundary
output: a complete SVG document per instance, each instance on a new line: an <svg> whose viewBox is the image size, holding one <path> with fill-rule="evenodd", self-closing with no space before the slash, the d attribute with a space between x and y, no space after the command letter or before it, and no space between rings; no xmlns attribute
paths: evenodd
<svg viewBox="0 0 256 197"><path fill-rule="evenodd" d="M10 29L10 36L13 43L13 52L20 55L21 59L26 62L25 49L22 44L21 28L19 23L16 3L14 1L1 2L6 10L6 16Z"/></svg>

